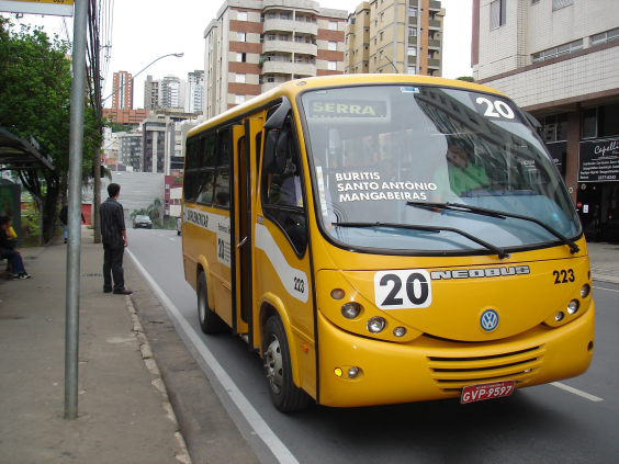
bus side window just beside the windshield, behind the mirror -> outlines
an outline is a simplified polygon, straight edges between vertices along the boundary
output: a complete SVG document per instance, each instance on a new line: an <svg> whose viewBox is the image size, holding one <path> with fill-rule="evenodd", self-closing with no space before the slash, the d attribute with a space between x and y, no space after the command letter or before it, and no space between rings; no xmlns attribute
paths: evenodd
<svg viewBox="0 0 619 464"><path fill-rule="evenodd" d="M305 227L305 206L303 204L303 176L296 137L288 123L288 147L285 168L281 173L265 173L262 166L262 208L265 215L278 224L294 247L297 254L303 254L307 246ZM267 139L267 137L265 137ZM265 159L265 157L262 157Z"/></svg>

